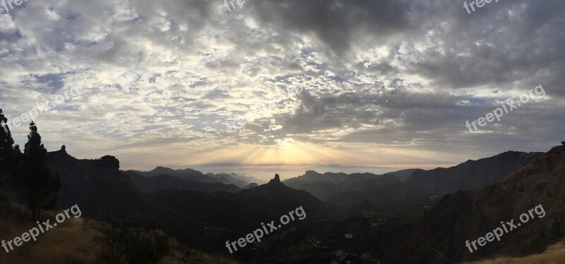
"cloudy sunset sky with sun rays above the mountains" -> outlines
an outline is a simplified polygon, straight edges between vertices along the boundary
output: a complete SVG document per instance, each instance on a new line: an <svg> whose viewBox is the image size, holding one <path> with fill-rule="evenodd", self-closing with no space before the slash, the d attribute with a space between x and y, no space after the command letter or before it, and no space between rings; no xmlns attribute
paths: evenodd
<svg viewBox="0 0 565 264"><path fill-rule="evenodd" d="M565 140L565 1L240 3L1 6L0 108L8 120L37 112L49 151L265 179L435 168ZM466 127L523 94L500 121ZM10 125L18 144L28 122Z"/></svg>

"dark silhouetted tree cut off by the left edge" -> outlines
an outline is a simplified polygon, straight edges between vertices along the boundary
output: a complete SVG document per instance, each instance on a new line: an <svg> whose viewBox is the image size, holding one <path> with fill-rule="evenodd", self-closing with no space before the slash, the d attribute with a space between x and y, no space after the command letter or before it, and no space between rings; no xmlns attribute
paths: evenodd
<svg viewBox="0 0 565 264"><path fill-rule="evenodd" d="M20 146L14 146L10 127L8 127L8 118L0 109L0 184L13 179L17 174L20 161Z"/></svg>

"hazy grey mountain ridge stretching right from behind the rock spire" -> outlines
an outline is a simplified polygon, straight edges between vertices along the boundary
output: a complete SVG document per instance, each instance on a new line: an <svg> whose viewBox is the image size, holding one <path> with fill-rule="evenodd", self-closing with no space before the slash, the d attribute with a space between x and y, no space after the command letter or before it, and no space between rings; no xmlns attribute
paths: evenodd
<svg viewBox="0 0 565 264"><path fill-rule="evenodd" d="M475 189L501 180L539 155L507 151L451 168L400 170L384 175L307 171L300 177L286 180L285 184L309 191L318 199L341 207L370 201L381 212L412 214L458 189Z"/></svg>

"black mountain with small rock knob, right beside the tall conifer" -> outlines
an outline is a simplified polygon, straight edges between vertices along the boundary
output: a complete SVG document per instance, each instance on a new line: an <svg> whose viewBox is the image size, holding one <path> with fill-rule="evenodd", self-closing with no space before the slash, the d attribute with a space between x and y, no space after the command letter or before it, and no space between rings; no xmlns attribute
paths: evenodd
<svg viewBox="0 0 565 264"><path fill-rule="evenodd" d="M119 171L119 161L113 156L79 160L61 148L47 153L47 161L51 170L61 176L56 208L79 204L85 216L95 219L150 217L145 199Z"/></svg>

